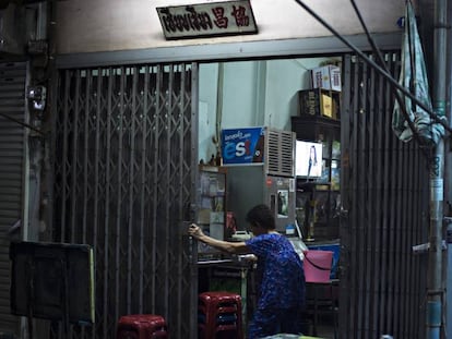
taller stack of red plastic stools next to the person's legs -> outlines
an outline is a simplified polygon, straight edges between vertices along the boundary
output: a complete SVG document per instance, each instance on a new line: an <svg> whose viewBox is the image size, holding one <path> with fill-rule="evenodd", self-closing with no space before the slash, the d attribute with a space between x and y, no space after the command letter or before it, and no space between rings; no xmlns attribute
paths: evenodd
<svg viewBox="0 0 452 339"><path fill-rule="evenodd" d="M223 291L203 292L199 295L198 312L200 338L243 338L239 294Z"/></svg>

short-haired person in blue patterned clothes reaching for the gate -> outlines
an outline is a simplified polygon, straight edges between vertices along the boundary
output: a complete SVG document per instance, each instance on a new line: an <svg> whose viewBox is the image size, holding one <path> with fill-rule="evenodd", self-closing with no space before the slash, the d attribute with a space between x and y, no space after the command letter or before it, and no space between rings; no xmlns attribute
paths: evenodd
<svg viewBox="0 0 452 339"><path fill-rule="evenodd" d="M272 210L257 205L247 214L254 234L245 242L222 241L205 235L192 223L189 234L230 254L254 254L258 259L258 302L248 326L248 339L277 334L301 334L305 306L305 273L292 243L276 232Z"/></svg>

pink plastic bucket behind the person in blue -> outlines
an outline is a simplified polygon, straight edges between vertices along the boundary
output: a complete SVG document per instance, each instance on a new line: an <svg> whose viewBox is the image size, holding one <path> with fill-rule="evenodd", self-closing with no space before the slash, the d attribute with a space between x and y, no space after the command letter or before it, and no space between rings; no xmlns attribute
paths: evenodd
<svg viewBox="0 0 452 339"><path fill-rule="evenodd" d="M305 252L306 282L330 282L333 251L309 250Z"/></svg>

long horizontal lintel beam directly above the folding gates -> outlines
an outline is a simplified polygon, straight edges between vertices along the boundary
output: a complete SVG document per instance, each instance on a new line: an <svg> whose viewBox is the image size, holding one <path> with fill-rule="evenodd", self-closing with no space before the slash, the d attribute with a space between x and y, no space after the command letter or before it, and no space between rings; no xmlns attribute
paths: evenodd
<svg viewBox="0 0 452 339"><path fill-rule="evenodd" d="M360 50L372 48L364 34L344 36ZM402 32L376 33L376 45L382 50L399 49ZM160 63L182 61L233 61L250 59L296 58L296 56L321 56L345 53L350 49L335 36L281 39L270 41L228 43L211 45L177 46L165 48L145 48L136 50L80 52L57 55L58 69L117 65L124 63ZM189 57L188 57L189 56Z"/></svg>

